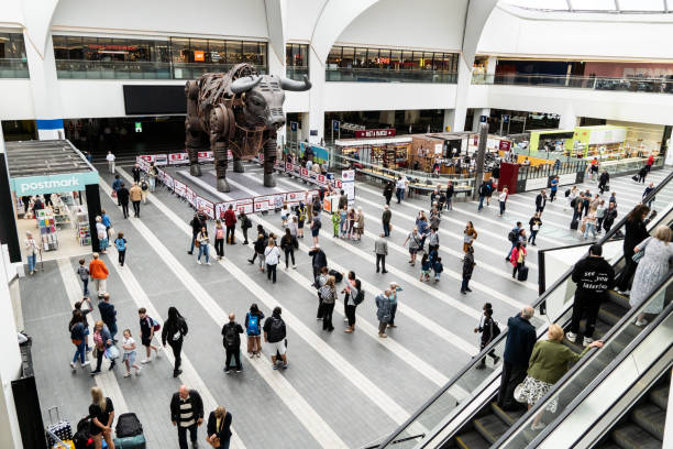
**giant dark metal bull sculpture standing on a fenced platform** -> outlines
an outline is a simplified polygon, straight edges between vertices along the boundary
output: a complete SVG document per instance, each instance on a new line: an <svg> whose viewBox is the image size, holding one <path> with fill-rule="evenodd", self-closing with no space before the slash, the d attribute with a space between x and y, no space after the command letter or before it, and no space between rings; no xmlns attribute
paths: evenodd
<svg viewBox="0 0 673 449"><path fill-rule="evenodd" d="M205 74L187 81L186 142L189 173L201 176L198 151L201 135L209 138L214 155L219 191L230 191L227 182L227 154L233 154L233 171L243 173L241 161L250 160L264 149L264 185L275 187L278 128L285 125L285 90L308 90L311 84L275 75L258 75L250 64L239 64L225 74Z"/></svg>

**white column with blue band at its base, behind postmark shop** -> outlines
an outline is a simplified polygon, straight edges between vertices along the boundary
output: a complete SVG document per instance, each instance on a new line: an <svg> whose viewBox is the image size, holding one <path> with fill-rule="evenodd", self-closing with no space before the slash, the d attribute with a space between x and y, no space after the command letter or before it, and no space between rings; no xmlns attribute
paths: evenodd
<svg viewBox="0 0 673 449"><path fill-rule="evenodd" d="M24 32L24 39L37 121L37 138L40 140L65 139L52 36L51 34L47 36L44 56L33 46L27 32Z"/></svg>

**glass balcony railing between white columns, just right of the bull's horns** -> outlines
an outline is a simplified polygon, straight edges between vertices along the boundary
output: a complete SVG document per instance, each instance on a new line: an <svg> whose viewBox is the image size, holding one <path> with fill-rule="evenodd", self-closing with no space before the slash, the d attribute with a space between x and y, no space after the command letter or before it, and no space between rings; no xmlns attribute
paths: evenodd
<svg viewBox="0 0 673 449"><path fill-rule="evenodd" d="M440 83L455 84L457 74L440 70L386 70L379 68L328 68L327 81L351 83Z"/></svg>

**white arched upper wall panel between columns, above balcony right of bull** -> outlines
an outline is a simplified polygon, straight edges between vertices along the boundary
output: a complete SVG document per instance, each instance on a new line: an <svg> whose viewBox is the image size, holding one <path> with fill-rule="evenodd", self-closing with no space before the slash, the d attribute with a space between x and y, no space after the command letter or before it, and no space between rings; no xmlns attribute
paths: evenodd
<svg viewBox="0 0 673 449"><path fill-rule="evenodd" d="M459 51L465 0L380 0L341 33L336 43Z"/></svg>

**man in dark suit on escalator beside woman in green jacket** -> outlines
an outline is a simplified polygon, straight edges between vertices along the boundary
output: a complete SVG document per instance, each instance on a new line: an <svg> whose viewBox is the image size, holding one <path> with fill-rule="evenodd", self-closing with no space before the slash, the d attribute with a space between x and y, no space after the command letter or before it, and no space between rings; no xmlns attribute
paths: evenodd
<svg viewBox="0 0 673 449"><path fill-rule="evenodd" d="M504 410L519 408L514 402L514 390L526 379L528 361L537 341L536 328L530 324L533 315L533 308L527 306L507 320L507 341L503 354L503 374L497 401Z"/></svg>

